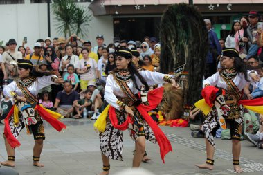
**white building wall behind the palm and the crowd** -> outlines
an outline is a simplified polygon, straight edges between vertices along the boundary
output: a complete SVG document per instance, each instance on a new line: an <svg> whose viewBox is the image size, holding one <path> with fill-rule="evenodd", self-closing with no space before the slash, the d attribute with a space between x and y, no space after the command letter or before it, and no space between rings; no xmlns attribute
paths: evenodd
<svg viewBox="0 0 263 175"><path fill-rule="evenodd" d="M89 6L89 3L78 4ZM30 3L29 0L26 0L25 4L0 5L0 15L0 41L3 40L4 44L10 38L14 38L17 41L17 46L20 46L23 38L28 37L26 46L33 47L37 39L45 39L48 36L46 3ZM53 18L51 10L51 38L63 36L57 33ZM88 38L82 39L90 40L93 46L96 45L96 35L98 34L104 35L105 43L109 44L114 37L113 17L93 17L87 34Z"/></svg>

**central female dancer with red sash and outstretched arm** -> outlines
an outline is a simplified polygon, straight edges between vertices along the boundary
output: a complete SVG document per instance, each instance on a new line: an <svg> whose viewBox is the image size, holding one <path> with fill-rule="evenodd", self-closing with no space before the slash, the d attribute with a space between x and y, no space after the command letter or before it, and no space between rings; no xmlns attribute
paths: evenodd
<svg viewBox="0 0 263 175"><path fill-rule="evenodd" d="M170 82L179 88L172 75L163 75L149 71L138 71L132 63L132 54L128 48L121 48L116 54L116 70L108 77L105 86L105 100L111 105L107 116L105 131L100 133L100 149L102 151L103 172L109 174L109 159L123 160L123 131L129 125L129 133L135 140L133 167L139 167L145 154L145 140L158 142L161 158L172 151L169 140L147 114L161 101L163 89L151 91L154 98L148 96L149 106L141 104L138 93L140 87L148 90L149 85ZM126 118L126 120L125 120Z"/></svg>

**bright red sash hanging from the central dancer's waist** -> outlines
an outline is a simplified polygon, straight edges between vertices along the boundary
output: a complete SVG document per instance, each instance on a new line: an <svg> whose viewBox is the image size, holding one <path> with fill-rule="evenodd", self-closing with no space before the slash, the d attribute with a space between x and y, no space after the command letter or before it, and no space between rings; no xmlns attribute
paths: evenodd
<svg viewBox="0 0 263 175"><path fill-rule="evenodd" d="M163 160L163 163L165 163L164 157L169 152L172 151L172 145L170 141L167 139L163 131L158 127L156 122L152 120L152 117L149 116L147 111L150 111L152 109L155 109L157 105L161 102L161 99L163 97L163 87L154 89L153 91L150 91L148 93L148 101L149 106L145 106L143 104L140 104L138 107L138 111L143 116L145 121L148 123L149 127L152 128L152 131L154 132L154 136L156 137L156 140L158 142L158 145L160 147L160 155L161 159ZM110 107L109 109L109 119L111 120L111 124L120 130L125 130L128 128L129 123L132 123L131 117L128 116L125 122L123 122L121 125L118 125L118 118L116 117L115 109L114 107Z"/></svg>

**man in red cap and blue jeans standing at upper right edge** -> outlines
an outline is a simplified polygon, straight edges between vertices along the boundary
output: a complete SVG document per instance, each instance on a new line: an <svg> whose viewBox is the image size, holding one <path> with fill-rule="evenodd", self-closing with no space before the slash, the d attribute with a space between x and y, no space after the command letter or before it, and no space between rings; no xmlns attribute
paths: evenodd
<svg viewBox="0 0 263 175"><path fill-rule="evenodd" d="M248 45L249 45L249 50L248 50L248 55L246 58L250 57L251 55L257 55L257 22L260 19L260 15L257 11L251 10L248 15L248 20L249 20L249 26L246 29L248 32Z"/></svg>

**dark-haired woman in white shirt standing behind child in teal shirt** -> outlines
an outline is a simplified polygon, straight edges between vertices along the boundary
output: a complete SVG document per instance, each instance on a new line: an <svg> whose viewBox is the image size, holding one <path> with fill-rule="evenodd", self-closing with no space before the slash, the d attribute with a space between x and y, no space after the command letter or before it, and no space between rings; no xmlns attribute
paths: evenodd
<svg viewBox="0 0 263 175"><path fill-rule="evenodd" d="M76 67L76 64L79 60L78 56L73 54L73 47L71 45L66 45L65 47L66 55L62 57L60 62L60 71L63 71L66 73L66 67L69 64L73 64L74 67ZM63 75L64 76L64 75Z"/></svg>

